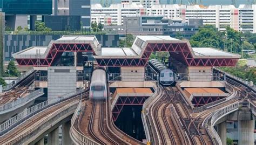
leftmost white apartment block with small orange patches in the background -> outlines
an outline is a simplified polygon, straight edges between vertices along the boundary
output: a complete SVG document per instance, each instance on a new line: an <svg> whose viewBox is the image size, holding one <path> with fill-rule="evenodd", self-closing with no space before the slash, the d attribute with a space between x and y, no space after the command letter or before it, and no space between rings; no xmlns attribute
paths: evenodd
<svg viewBox="0 0 256 145"><path fill-rule="evenodd" d="M102 23L104 25L123 25L125 16L144 16L146 9L141 4L111 4L103 8L101 4L92 4L91 21L92 23Z"/></svg>

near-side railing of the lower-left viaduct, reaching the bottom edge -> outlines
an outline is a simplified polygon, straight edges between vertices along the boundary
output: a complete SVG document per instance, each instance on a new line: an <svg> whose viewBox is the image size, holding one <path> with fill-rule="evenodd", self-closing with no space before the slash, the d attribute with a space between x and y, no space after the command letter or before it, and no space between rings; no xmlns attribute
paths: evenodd
<svg viewBox="0 0 256 145"><path fill-rule="evenodd" d="M67 116L75 112L77 103L78 100L62 108L59 108L56 112L50 114L32 128L25 130L24 133L15 136L14 139L9 140L4 144L23 144L25 141L28 141L31 137L34 137L39 132L46 131L46 129L48 129L52 124L54 125L57 122L63 120L63 116Z"/></svg>

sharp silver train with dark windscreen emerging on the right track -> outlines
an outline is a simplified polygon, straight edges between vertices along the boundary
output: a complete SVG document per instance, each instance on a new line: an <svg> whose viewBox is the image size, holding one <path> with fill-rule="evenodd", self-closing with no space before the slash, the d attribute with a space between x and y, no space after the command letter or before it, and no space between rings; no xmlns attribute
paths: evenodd
<svg viewBox="0 0 256 145"><path fill-rule="evenodd" d="M149 60L149 65L159 74L159 82L161 85L169 86L174 84L174 73L157 59Z"/></svg>

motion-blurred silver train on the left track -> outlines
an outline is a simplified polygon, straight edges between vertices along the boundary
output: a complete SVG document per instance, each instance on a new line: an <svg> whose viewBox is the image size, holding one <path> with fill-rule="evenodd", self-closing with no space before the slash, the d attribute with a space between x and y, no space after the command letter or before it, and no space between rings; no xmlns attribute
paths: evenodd
<svg viewBox="0 0 256 145"><path fill-rule="evenodd" d="M89 97L93 100L104 100L107 98L107 80L105 70L96 69L92 72Z"/></svg>

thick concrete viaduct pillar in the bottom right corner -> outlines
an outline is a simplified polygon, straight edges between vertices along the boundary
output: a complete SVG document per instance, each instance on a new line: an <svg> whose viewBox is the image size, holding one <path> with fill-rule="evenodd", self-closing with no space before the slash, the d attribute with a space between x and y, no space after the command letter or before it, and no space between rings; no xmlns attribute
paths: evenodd
<svg viewBox="0 0 256 145"><path fill-rule="evenodd" d="M254 120L239 120L238 145L254 145Z"/></svg>

